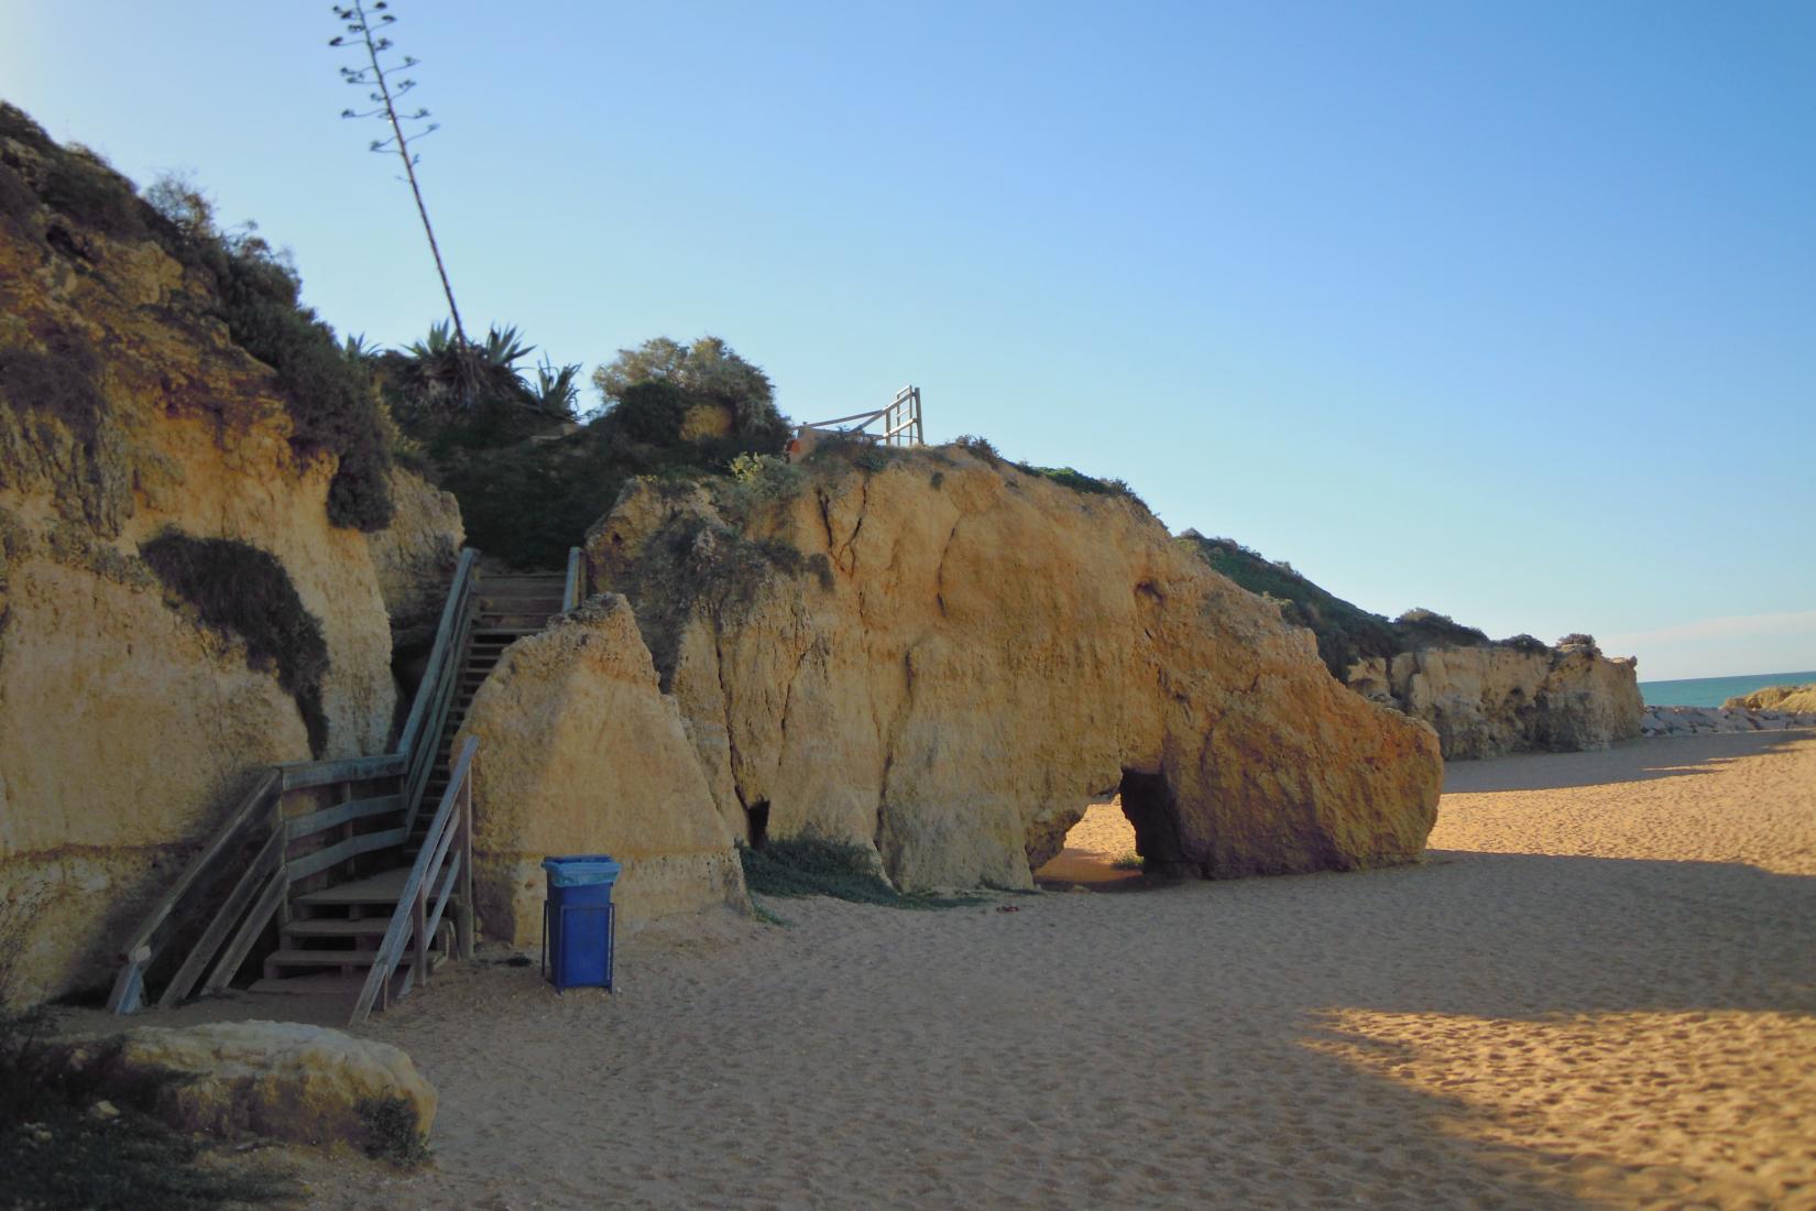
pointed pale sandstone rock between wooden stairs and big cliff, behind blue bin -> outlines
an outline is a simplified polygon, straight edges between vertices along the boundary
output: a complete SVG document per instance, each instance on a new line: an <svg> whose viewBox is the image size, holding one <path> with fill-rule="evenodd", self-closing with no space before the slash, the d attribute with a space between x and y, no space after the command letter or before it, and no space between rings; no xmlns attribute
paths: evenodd
<svg viewBox="0 0 1816 1211"><path fill-rule="evenodd" d="M456 739L479 737L474 891L489 937L536 946L552 853L610 853L619 928L743 910L734 835L623 597L514 643Z"/></svg>

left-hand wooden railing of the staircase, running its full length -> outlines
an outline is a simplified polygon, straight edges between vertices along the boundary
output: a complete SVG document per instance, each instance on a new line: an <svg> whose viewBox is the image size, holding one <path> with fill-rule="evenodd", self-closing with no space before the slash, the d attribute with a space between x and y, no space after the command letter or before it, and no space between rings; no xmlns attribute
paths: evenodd
<svg viewBox="0 0 1816 1211"><path fill-rule="evenodd" d="M267 768L122 948L122 966L107 997L111 1011L134 1013L143 1008L145 977L153 964L174 942L183 940L185 926L209 908L209 893L234 870L249 846L256 844L258 850L165 984L160 1006L178 1004L194 991L198 980L202 991L225 988L265 926L283 908L291 884L365 853L401 850L434 768L441 728L459 681L458 663L472 626L476 566L478 552L463 550L398 750L380 757L298 761ZM372 793L378 790L372 786L356 792L360 784L394 779L401 786L392 793ZM312 812L285 812L289 793L320 795L321 788L332 788L336 801ZM385 826L383 817L401 817L401 824ZM334 832L340 835L327 835ZM439 911L436 919L439 921Z"/></svg>

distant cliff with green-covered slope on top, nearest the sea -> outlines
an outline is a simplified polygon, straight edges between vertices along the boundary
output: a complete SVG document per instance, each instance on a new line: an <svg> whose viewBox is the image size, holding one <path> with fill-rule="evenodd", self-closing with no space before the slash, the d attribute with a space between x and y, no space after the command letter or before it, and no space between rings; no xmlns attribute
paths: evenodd
<svg viewBox="0 0 1816 1211"><path fill-rule="evenodd" d="M1435 726L1449 759L1607 748L1640 735L1634 661L1602 655L1589 635L1556 646L1531 635L1491 641L1431 610L1389 621L1229 539L1188 530L1180 541L1309 628L1333 677Z"/></svg>

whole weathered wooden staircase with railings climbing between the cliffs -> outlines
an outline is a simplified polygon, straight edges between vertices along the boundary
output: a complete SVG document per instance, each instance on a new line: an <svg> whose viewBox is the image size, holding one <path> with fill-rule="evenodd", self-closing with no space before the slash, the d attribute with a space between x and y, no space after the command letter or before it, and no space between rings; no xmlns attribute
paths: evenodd
<svg viewBox="0 0 1816 1211"><path fill-rule="evenodd" d="M145 1004L160 953L185 955L160 1006L220 991L272 933L252 991L347 993L354 1022L470 957L478 743L454 737L505 648L577 605L579 577L579 550L565 576L487 574L465 552L400 752L267 770L122 950L109 1008Z"/></svg>

